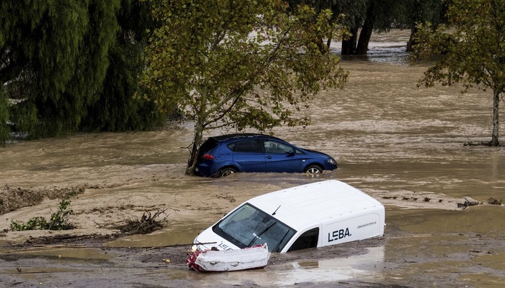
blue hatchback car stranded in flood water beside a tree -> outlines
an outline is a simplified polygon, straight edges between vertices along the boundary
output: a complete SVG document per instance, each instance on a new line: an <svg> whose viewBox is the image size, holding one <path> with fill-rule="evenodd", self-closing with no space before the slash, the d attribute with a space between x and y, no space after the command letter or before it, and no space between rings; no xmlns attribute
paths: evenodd
<svg viewBox="0 0 505 288"><path fill-rule="evenodd" d="M320 174L335 170L327 154L302 149L263 134L229 134L209 137L200 146L196 174L222 177L236 172L291 172Z"/></svg>

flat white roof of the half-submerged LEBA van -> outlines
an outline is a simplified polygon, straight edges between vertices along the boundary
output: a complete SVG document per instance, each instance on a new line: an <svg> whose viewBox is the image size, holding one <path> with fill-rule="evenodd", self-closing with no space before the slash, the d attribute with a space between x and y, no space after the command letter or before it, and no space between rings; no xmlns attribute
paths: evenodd
<svg viewBox="0 0 505 288"><path fill-rule="evenodd" d="M248 203L299 231L316 224L337 222L349 214L359 216L383 210L365 192L337 180L287 188L250 199Z"/></svg>

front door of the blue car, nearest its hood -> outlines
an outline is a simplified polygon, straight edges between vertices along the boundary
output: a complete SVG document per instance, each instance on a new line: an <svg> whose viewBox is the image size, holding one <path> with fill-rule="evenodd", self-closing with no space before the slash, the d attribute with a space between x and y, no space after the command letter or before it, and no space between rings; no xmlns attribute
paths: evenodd
<svg viewBox="0 0 505 288"><path fill-rule="evenodd" d="M266 172L301 173L305 154L291 145L273 140L264 141Z"/></svg>

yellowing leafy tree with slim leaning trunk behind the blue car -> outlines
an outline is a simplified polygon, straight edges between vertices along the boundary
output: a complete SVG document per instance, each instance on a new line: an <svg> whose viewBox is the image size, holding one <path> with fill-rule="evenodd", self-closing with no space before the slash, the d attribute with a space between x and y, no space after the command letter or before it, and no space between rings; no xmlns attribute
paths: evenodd
<svg viewBox="0 0 505 288"><path fill-rule="evenodd" d="M320 50L337 31L329 11L286 12L281 0L154 1L161 22L148 46L145 98L177 105L194 121L187 174L196 166L204 130L307 125L298 115L327 87L342 87L339 59Z"/></svg>

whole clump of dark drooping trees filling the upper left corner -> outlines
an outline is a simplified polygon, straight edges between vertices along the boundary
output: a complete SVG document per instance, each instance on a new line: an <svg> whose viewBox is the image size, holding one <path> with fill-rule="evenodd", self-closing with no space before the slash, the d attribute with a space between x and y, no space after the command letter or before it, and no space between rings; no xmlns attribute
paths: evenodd
<svg viewBox="0 0 505 288"><path fill-rule="evenodd" d="M162 124L133 97L154 25L139 0L0 1L0 142Z"/></svg>

